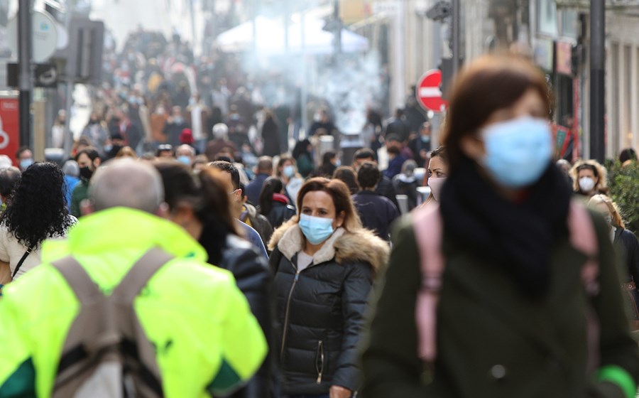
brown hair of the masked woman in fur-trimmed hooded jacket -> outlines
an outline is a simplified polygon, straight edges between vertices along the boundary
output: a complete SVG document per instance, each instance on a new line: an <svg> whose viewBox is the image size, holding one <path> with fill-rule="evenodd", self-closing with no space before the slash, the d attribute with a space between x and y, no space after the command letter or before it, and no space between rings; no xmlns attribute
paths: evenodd
<svg viewBox="0 0 639 398"><path fill-rule="evenodd" d="M304 196L309 192L321 190L328 193L333 199L333 205L335 205L335 214L339 215L344 212L344 230L354 231L361 228L361 221L359 215L355 211L353 200L351 200L351 194L349 188L345 183L339 180L329 180L328 178L316 177L306 181L300 192L297 193L297 211L302 211L302 202ZM296 221L299 221L299 215L296 216Z"/></svg>

